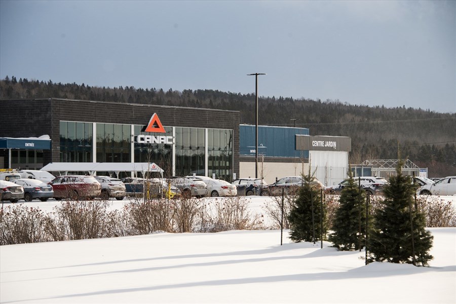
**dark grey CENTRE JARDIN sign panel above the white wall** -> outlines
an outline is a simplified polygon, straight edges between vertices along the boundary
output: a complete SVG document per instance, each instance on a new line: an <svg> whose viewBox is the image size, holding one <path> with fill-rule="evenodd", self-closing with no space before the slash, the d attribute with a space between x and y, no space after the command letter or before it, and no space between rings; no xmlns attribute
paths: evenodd
<svg viewBox="0 0 456 304"><path fill-rule="evenodd" d="M296 135L296 150L351 151L352 139L343 136Z"/></svg>

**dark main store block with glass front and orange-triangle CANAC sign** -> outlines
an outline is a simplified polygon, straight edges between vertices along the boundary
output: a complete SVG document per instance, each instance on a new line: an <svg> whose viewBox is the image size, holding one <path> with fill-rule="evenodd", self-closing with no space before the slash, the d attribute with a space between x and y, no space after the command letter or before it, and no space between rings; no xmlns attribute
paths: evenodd
<svg viewBox="0 0 456 304"><path fill-rule="evenodd" d="M0 168L150 162L168 175L239 172L239 111L68 99L0 101ZM49 135L48 146L35 146ZM13 144L15 142L15 144Z"/></svg>

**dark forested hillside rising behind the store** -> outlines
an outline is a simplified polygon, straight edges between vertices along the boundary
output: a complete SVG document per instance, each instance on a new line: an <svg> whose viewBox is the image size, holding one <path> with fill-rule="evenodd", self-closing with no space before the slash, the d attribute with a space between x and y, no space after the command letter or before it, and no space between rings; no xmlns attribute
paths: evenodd
<svg viewBox="0 0 456 304"><path fill-rule="evenodd" d="M217 90L184 90L134 87L100 88L52 81L0 80L0 99L68 98L142 104L204 107L241 112L241 124L255 124L255 94ZM429 100L429 103L439 102ZM396 159L401 155L428 168L430 177L456 175L456 113L429 109L350 105L337 100L258 98L259 125L310 129L311 135L350 136L350 162ZM0 109L2 110L2 109Z"/></svg>

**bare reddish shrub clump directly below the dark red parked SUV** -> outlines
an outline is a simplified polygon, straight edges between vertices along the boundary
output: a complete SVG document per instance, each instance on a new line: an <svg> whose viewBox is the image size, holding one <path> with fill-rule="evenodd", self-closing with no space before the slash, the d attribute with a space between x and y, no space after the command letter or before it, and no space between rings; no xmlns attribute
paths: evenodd
<svg viewBox="0 0 456 304"><path fill-rule="evenodd" d="M55 241L109 236L106 201L66 201L48 214L46 231Z"/></svg>

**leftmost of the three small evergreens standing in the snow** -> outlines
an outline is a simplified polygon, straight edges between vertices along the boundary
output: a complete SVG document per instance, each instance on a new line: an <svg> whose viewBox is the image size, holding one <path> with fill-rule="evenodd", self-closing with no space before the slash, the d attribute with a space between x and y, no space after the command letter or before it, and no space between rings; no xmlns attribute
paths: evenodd
<svg viewBox="0 0 456 304"><path fill-rule="evenodd" d="M315 242L322 235L320 215L323 217L323 236L327 232L326 208L325 205L321 208L321 191L314 182L315 178L309 172L302 179L303 185L288 215L290 239L294 242Z"/></svg>

